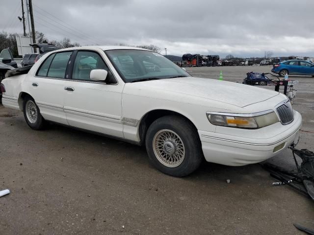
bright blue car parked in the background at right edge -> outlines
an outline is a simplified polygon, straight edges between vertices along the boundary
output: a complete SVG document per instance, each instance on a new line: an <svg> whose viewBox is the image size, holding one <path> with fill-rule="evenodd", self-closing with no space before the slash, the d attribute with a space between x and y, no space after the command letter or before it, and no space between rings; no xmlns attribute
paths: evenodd
<svg viewBox="0 0 314 235"><path fill-rule="evenodd" d="M285 76L288 73L314 77L314 64L304 60L286 60L274 65L271 71L278 73L279 76Z"/></svg>

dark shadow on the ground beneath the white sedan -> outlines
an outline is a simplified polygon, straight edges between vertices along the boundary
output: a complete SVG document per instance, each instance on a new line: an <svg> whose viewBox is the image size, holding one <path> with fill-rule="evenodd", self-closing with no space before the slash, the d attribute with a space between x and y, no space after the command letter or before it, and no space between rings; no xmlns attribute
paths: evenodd
<svg viewBox="0 0 314 235"><path fill-rule="evenodd" d="M148 171L145 170L143 173L150 174L151 171L154 173L158 172L150 164L147 152L144 146L137 146L125 141L119 141L111 139L101 135L84 132L81 130L61 126L57 124L50 124L48 132L58 133L58 135L66 136L66 139L71 138L75 144L79 146L85 145L97 145L98 147L105 148L111 153L118 153L120 163L132 162L130 167L136 168L150 168ZM95 147L96 148L96 147ZM115 156L115 154L113 154ZM96 155L92 156L97 158ZM128 167L128 166L126 166ZM159 172L158 172L159 174ZM162 174L162 173L161 173ZM254 179L254 181L262 180L262 178L268 177L268 173L262 168L260 164L249 164L244 166L227 166L221 164L202 162L199 169L189 176L183 177L187 181L205 181L215 180L222 183L226 183L226 180L230 180L232 183L248 181L248 179Z"/></svg>

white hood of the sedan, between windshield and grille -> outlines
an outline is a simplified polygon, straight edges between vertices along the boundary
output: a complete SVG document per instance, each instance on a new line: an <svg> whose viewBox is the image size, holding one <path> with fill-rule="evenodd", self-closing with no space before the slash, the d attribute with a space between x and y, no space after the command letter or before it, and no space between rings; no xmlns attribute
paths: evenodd
<svg viewBox="0 0 314 235"><path fill-rule="evenodd" d="M197 96L238 107L262 102L279 94L278 92L240 83L199 77L151 80L132 83L132 85L141 88L146 87L152 91L162 90L185 96Z"/></svg>

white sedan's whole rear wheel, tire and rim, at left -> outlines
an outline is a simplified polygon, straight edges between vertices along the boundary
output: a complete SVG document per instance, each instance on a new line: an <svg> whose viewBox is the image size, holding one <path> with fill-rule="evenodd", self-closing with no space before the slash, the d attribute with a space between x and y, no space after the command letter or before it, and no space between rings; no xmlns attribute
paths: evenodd
<svg viewBox="0 0 314 235"><path fill-rule="evenodd" d="M27 95L23 102L23 113L27 125L33 130L42 130L45 126L45 119L41 116L35 100Z"/></svg>

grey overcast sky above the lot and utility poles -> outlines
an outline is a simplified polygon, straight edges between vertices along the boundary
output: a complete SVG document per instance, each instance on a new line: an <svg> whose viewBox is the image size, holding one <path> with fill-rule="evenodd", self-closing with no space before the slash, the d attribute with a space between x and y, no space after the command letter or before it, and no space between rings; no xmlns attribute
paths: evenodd
<svg viewBox="0 0 314 235"><path fill-rule="evenodd" d="M33 0L33 9L35 29L50 40L154 44L173 55L314 57L314 0ZM21 0L1 0L0 30L23 33L21 12Z"/></svg>

